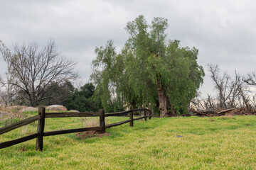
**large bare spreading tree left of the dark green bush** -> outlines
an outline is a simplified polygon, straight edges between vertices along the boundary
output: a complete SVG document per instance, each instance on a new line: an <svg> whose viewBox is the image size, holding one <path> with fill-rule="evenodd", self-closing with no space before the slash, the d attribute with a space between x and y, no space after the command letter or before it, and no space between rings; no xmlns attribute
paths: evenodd
<svg viewBox="0 0 256 170"><path fill-rule="evenodd" d="M30 45L14 45L12 50L1 44L1 55L9 64L14 81L6 80L18 89L31 106L38 106L48 99L46 88L53 83L62 84L78 77L73 72L75 62L60 57L55 43L50 40L46 47L38 49L36 42Z"/></svg>

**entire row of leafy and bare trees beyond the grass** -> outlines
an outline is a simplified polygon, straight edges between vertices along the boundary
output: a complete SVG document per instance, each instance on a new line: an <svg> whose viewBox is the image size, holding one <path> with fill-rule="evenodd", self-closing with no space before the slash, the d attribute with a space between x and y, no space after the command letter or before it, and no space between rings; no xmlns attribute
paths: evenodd
<svg viewBox="0 0 256 170"><path fill-rule="evenodd" d="M220 73L218 65L208 64L218 96L201 100L198 88L204 70L198 65L198 49L181 47L167 38L165 18L151 24L144 16L128 22L129 38L117 52L114 42L96 47L92 61L92 83L75 88L76 63L60 56L53 40L39 48L36 42L9 48L0 42L7 64L0 78L1 100L7 105L40 106L60 104L69 110L124 111L127 108L152 108L156 114L172 116L187 113L188 108L218 109L256 106L249 95L256 85L255 73L235 77ZM253 103L254 102L254 103Z"/></svg>

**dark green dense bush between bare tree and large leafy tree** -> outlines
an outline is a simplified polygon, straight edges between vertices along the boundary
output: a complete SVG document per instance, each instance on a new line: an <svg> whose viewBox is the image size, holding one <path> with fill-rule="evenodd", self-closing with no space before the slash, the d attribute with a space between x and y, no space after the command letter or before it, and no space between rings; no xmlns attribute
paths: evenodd
<svg viewBox="0 0 256 170"><path fill-rule="evenodd" d="M95 92L95 86L92 83L87 83L80 89L75 89L72 96L68 98L65 106L68 110L77 111L99 111L101 103L99 100L92 98Z"/></svg>

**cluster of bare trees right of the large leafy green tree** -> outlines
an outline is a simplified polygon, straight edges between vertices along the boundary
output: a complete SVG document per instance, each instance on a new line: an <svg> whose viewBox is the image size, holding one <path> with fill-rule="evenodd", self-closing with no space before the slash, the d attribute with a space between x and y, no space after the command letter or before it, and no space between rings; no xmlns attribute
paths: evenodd
<svg viewBox="0 0 256 170"><path fill-rule="evenodd" d="M254 72L247 74L245 78L235 71L235 76L231 77L226 72L220 74L217 64L208 64L208 71L215 84L215 89L218 91L218 96L213 98L208 94L206 99L201 100L199 99L200 95L198 95L191 101L191 107L210 111L238 106L246 107L247 111L252 111L252 108L256 107L256 96L251 95L252 89L249 86L256 86L256 74Z"/></svg>

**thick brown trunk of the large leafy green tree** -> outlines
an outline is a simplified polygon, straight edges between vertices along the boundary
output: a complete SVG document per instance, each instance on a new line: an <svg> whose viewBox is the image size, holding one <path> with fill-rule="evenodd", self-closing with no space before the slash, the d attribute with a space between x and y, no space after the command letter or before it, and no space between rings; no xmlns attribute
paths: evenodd
<svg viewBox="0 0 256 170"><path fill-rule="evenodd" d="M159 81L156 81L156 87L157 87L157 94L158 94L158 98L159 98L159 111L160 111L160 117L166 117L169 115L169 100L166 96L166 94L164 94L164 89L161 87L161 85L159 84Z"/></svg>

